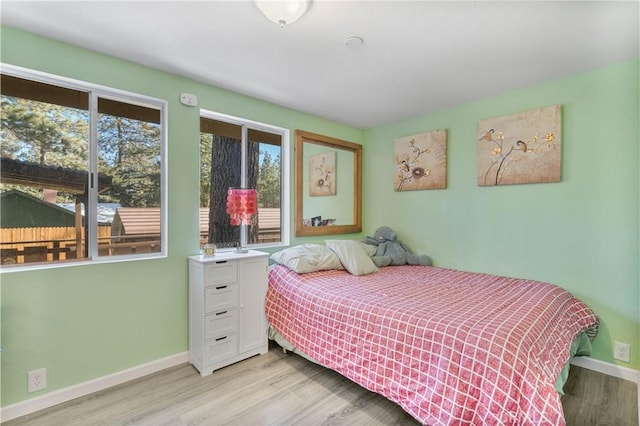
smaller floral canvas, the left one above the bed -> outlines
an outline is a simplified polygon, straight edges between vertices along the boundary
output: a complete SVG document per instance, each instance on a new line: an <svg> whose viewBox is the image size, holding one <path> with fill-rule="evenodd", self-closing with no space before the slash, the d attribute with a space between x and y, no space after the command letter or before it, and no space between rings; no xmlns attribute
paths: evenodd
<svg viewBox="0 0 640 426"><path fill-rule="evenodd" d="M395 191L447 187L447 131L434 130L396 139Z"/></svg>

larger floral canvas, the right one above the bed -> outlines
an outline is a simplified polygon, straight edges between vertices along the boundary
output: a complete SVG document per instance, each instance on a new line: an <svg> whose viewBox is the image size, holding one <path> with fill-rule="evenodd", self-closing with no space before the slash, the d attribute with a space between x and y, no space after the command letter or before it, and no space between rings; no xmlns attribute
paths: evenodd
<svg viewBox="0 0 640 426"><path fill-rule="evenodd" d="M561 107L478 123L478 186L560 181Z"/></svg>

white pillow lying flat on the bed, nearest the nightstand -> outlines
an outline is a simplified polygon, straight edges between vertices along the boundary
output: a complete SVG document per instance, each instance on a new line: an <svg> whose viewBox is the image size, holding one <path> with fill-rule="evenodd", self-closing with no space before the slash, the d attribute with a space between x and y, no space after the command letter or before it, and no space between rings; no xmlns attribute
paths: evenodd
<svg viewBox="0 0 640 426"><path fill-rule="evenodd" d="M338 256L320 244L302 244L280 250L271 255L271 260L299 273L344 269Z"/></svg>

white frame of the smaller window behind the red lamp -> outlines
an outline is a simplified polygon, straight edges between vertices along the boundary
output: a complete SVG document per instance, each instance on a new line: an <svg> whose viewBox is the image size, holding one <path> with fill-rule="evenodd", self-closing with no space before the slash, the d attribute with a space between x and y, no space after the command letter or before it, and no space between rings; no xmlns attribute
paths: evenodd
<svg viewBox="0 0 640 426"><path fill-rule="evenodd" d="M234 124L240 126L242 128L242 146L243 146L243 154L242 154L242 169L244 170L246 163L246 153L244 147L247 143L247 134L249 130L258 130L264 131L268 133L273 133L280 135L281 137L281 154L280 154L280 241L279 242L268 242L261 244L247 244L247 248L249 249L261 249L261 248L269 248L269 247L285 247L290 244L290 236L291 236L291 221L290 221L290 167L289 167L289 147L290 147L290 131L287 128L275 126L272 124L266 124L259 121L249 120L246 118L236 117L233 115L228 115L220 112L215 112L207 109L200 109L200 118L207 118L211 120L223 121L229 124ZM199 123L199 121L198 121ZM199 130L199 129L198 129ZM200 134L200 132L198 132ZM198 139L199 140L199 139ZM199 152L199 150L198 150ZM198 164L202 164L202 159L200 158L200 154L198 154ZM243 175L245 172L243 171ZM246 176L242 177L242 182L244 182ZM200 203L198 202L198 208L200 208ZM244 233L244 237L242 234ZM240 234L241 240L247 241L248 229L246 227L241 227ZM233 248L222 248L219 251L233 251Z"/></svg>

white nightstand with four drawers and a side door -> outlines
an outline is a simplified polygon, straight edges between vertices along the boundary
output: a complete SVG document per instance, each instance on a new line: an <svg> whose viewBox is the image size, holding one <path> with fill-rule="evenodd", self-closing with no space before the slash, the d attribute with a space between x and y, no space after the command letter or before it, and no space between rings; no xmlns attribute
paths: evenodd
<svg viewBox="0 0 640 426"><path fill-rule="evenodd" d="M269 254L189 257L189 362L201 376L268 350Z"/></svg>

